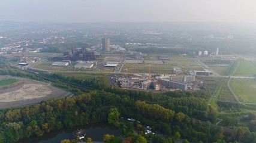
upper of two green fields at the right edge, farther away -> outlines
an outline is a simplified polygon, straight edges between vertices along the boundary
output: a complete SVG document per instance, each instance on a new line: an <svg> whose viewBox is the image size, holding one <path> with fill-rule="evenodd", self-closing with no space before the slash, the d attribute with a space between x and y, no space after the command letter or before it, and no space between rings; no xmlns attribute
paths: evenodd
<svg viewBox="0 0 256 143"><path fill-rule="evenodd" d="M256 63L251 61L241 60L239 68L234 73L235 76L255 76L256 75Z"/></svg>

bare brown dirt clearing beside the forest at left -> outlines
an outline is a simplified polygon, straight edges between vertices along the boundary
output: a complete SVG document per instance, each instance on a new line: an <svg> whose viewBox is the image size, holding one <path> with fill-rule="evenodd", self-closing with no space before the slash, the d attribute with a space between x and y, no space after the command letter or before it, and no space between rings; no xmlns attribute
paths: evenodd
<svg viewBox="0 0 256 143"><path fill-rule="evenodd" d="M47 83L35 82L28 79L12 77L20 81L19 85L10 85L0 91L0 108L19 107L35 104L52 98L71 96L62 89L55 88Z"/></svg>

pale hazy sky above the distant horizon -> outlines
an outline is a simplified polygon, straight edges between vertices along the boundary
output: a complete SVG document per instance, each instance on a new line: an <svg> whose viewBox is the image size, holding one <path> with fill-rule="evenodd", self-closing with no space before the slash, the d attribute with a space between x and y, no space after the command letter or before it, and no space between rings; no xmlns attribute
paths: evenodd
<svg viewBox="0 0 256 143"><path fill-rule="evenodd" d="M255 0L0 0L0 21L256 23Z"/></svg>

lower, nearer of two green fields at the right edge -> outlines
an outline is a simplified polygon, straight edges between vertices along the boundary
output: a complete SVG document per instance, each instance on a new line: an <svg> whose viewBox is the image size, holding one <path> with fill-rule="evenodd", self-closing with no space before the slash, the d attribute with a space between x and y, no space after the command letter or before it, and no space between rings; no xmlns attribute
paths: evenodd
<svg viewBox="0 0 256 143"><path fill-rule="evenodd" d="M242 102L256 104L256 79L232 79L230 85Z"/></svg>

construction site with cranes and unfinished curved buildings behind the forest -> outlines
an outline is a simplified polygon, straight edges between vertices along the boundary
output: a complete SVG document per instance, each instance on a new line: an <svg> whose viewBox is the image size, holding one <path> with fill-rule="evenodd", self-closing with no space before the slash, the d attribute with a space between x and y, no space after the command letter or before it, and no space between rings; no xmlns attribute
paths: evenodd
<svg viewBox="0 0 256 143"><path fill-rule="evenodd" d="M150 74L150 65L148 73L128 74L129 69L124 69L124 76L112 77L111 80L117 82L121 88L131 89L152 89L155 91L192 89L192 85L197 84L195 76L179 74Z"/></svg>

